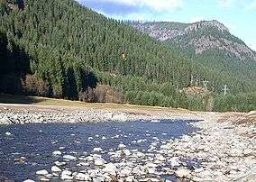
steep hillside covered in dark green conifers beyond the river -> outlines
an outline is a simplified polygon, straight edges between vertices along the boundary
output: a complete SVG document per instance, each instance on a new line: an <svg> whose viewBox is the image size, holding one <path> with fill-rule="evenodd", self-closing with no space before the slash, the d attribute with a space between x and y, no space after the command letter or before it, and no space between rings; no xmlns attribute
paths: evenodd
<svg viewBox="0 0 256 182"><path fill-rule="evenodd" d="M1 0L0 14L0 92L195 110L255 108L252 86L240 77L206 68L75 1ZM210 84L203 95L181 92L204 80ZM213 105L213 97L231 100L219 97L227 83L235 99Z"/></svg>

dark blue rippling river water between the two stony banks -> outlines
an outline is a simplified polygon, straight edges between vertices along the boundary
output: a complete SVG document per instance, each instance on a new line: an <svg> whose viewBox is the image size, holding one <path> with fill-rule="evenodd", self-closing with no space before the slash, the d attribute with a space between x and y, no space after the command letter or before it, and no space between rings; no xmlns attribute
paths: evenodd
<svg viewBox="0 0 256 182"><path fill-rule="evenodd" d="M23 181L36 179L35 172L50 170L58 157L52 151L81 155L94 148L116 149L120 143L127 149L147 150L155 138L175 139L195 132L192 121L130 123L25 124L0 126L0 181L6 178ZM8 136L5 132L11 132ZM104 136L104 138L102 138ZM92 140L88 140L92 137ZM105 139L106 138L106 139ZM140 143L134 141L142 140Z"/></svg>

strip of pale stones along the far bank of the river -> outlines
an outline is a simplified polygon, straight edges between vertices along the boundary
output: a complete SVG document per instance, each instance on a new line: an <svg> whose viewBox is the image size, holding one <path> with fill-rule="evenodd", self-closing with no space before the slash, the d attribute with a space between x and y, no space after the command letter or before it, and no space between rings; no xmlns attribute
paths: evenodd
<svg viewBox="0 0 256 182"><path fill-rule="evenodd" d="M101 123L138 120L183 119L201 120L193 112L133 112L129 110L101 110L86 107L0 105L0 124L15 123Z"/></svg>

